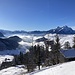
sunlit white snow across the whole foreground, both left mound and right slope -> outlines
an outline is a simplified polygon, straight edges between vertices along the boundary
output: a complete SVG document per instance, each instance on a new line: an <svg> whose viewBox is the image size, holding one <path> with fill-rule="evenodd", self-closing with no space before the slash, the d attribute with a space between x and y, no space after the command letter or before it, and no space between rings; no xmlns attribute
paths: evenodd
<svg viewBox="0 0 75 75"><path fill-rule="evenodd" d="M75 61L58 64L32 73L21 67L9 67L0 71L0 75L75 75Z"/></svg>

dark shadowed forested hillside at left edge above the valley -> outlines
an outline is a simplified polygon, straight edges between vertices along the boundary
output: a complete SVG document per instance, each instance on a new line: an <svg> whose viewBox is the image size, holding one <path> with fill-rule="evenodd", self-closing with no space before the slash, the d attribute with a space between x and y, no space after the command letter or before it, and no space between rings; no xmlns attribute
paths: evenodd
<svg viewBox="0 0 75 75"><path fill-rule="evenodd" d="M9 38L0 38L0 50L12 50L18 47L18 42L21 39L17 36L9 37Z"/></svg>

